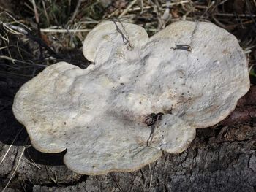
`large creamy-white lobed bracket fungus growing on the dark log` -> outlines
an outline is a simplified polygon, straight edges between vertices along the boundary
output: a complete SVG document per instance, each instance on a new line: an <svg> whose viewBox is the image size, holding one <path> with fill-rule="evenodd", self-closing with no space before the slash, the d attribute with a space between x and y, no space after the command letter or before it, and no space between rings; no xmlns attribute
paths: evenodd
<svg viewBox="0 0 256 192"><path fill-rule="evenodd" d="M104 22L83 43L87 69L59 62L20 88L13 112L32 145L67 149L81 174L129 172L181 153L195 128L213 126L249 90L246 55L212 23L180 21L148 38L140 26Z"/></svg>

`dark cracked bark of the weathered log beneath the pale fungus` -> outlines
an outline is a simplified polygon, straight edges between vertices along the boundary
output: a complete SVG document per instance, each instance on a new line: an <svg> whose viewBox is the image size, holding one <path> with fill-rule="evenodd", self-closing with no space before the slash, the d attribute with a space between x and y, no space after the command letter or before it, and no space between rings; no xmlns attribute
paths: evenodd
<svg viewBox="0 0 256 192"><path fill-rule="evenodd" d="M13 96L22 83L0 79L0 161L23 128L11 110ZM241 106L248 109L246 104ZM44 154L30 147L21 158L8 191L255 191L255 119L250 117L233 126L222 124L229 126L197 129L197 137L184 153L166 153L151 164L151 169L145 166L136 172L115 172L116 180L110 174L76 174L63 165L64 153ZM24 128L0 165L0 189L18 164L26 138Z"/></svg>

